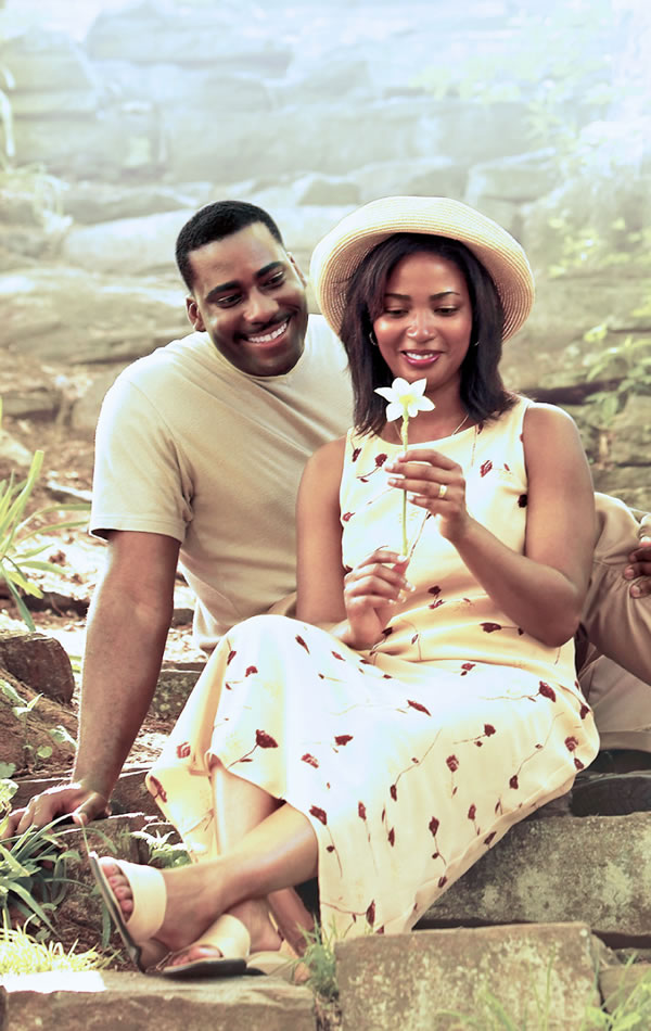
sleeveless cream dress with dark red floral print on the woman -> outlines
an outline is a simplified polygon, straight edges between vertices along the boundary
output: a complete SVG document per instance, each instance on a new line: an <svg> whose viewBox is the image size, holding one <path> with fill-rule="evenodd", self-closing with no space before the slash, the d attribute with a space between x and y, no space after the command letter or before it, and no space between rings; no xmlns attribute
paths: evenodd
<svg viewBox="0 0 651 1031"><path fill-rule="evenodd" d="M527 402L435 443L459 462L469 511L524 547ZM341 485L344 564L400 550L400 450L350 431ZM435 517L414 506L416 590L357 652L317 627L260 615L215 650L148 785L194 860L216 854L209 762L286 800L318 840L321 921L410 929L509 827L565 792L598 749L574 648L500 612Z"/></svg>

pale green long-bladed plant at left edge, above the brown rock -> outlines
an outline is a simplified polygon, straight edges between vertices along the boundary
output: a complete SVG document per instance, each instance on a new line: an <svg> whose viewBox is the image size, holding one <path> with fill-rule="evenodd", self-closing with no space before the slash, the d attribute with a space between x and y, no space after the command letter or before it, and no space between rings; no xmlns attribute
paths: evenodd
<svg viewBox="0 0 651 1031"><path fill-rule="evenodd" d="M1 418L2 403L0 399L0 420ZM38 558L50 545L48 543L34 545L34 538L38 534L67 530L84 524L84 520L68 520L41 525L40 520L51 512L88 510L88 505L85 502L49 505L25 517L25 508L38 480L42 462L43 451L37 450L31 459L26 480L16 483L12 473L9 480L0 482L0 578L4 580L21 616L30 631L35 631L36 626L21 591L35 598L42 598L42 590L28 578L25 570L59 572L59 567L54 565L53 562L47 562Z"/></svg>

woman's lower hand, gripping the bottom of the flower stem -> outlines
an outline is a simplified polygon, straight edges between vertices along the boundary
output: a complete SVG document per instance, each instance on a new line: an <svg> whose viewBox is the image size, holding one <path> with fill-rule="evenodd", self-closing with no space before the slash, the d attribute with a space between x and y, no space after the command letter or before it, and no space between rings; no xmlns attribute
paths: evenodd
<svg viewBox="0 0 651 1031"><path fill-rule="evenodd" d="M376 548L344 577L347 627L342 639L352 648L372 648L391 619L403 591L412 590L405 576L409 559Z"/></svg>

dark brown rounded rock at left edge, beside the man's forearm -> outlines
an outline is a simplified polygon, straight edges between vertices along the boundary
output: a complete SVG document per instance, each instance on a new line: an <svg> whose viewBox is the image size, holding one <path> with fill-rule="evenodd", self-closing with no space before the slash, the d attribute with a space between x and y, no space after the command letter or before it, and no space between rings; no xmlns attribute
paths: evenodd
<svg viewBox="0 0 651 1031"><path fill-rule="evenodd" d="M39 695L72 701L75 677L71 660L53 637L0 631L0 666Z"/></svg>

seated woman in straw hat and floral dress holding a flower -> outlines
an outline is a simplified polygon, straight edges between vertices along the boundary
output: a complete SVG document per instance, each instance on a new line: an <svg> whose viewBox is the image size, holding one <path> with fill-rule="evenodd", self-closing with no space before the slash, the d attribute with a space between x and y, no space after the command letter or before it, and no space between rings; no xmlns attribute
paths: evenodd
<svg viewBox="0 0 651 1031"><path fill-rule="evenodd" d="M273 969L268 907L305 922L312 876L339 933L410 929L597 752L572 644L589 470L572 420L498 372L533 304L522 249L458 202L387 198L321 241L312 279L356 425L305 470L298 622L227 636L150 775L202 862L93 860L137 962L154 940L171 975ZM376 393L394 378L424 380L406 453Z"/></svg>

